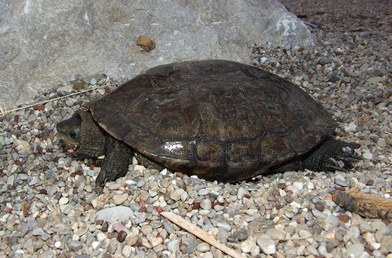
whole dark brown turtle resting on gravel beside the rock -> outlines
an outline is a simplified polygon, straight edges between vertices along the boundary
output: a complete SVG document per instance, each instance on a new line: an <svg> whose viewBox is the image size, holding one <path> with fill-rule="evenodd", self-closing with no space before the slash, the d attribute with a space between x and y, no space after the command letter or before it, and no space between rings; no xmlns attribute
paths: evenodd
<svg viewBox="0 0 392 258"><path fill-rule="evenodd" d="M287 170L346 171L359 143L335 140L337 122L299 86L227 60L147 70L57 123L76 156L105 155L95 182L124 176L132 157L209 181Z"/></svg>

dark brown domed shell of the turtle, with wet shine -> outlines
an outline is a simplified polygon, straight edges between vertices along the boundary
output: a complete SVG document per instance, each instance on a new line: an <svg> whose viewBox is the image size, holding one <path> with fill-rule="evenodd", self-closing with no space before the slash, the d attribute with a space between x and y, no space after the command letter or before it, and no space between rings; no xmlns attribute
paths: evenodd
<svg viewBox="0 0 392 258"><path fill-rule="evenodd" d="M298 86L225 60L152 68L89 108L107 133L154 162L226 182L302 155L336 128Z"/></svg>

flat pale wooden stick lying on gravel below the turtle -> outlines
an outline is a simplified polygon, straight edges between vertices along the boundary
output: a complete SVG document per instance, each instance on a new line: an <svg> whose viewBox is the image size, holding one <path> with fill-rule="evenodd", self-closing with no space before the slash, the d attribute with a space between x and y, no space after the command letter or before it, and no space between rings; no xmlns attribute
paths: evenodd
<svg viewBox="0 0 392 258"><path fill-rule="evenodd" d="M177 224L181 228L189 231L193 235L196 235L197 237L203 239L210 245L215 246L216 248L220 249L222 252L228 254L231 257L234 258L246 258L245 256L241 255L240 253L234 251L233 249L225 246L221 242L218 242L212 235L208 234L204 230L200 229L199 227L195 226L194 224L186 221L185 219L181 218L180 216L174 214L173 212L169 211L162 211L160 213L162 216L165 218L169 219L173 223Z"/></svg>

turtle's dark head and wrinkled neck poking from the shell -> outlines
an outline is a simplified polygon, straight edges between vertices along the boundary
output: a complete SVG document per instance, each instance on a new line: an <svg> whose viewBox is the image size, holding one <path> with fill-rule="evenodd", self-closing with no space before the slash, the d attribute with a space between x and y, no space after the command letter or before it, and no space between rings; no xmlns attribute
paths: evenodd
<svg viewBox="0 0 392 258"><path fill-rule="evenodd" d="M96 158L105 154L105 134L89 111L76 110L73 117L57 123L56 127L76 156Z"/></svg>

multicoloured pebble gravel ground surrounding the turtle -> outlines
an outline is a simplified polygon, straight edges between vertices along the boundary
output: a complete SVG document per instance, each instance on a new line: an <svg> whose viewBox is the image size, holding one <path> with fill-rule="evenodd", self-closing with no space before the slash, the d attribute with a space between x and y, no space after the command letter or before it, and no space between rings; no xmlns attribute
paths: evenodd
<svg viewBox="0 0 392 258"><path fill-rule="evenodd" d="M243 184L133 164L98 197L92 182L99 167L66 153L55 124L121 79L75 75L37 101L107 86L0 118L0 258L227 257L154 207L180 214L246 257L392 257L390 222L330 200L335 188L355 185L391 195L392 6L386 0L282 2L306 15L317 46L257 45L254 65L314 96L340 122L336 138L362 144L363 162L347 173L285 172Z"/></svg>

